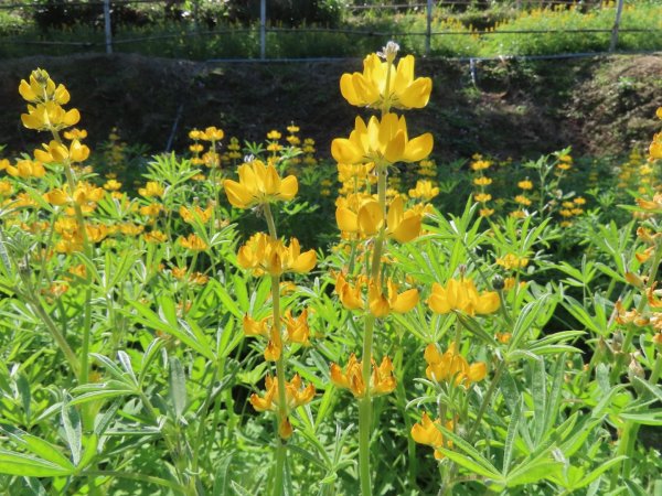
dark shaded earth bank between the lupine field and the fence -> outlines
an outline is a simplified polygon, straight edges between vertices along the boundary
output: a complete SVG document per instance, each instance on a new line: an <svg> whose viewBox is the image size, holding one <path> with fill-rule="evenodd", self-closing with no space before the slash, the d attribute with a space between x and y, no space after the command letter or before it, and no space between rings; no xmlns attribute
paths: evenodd
<svg viewBox="0 0 662 496"><path fill-rule="evenodd" d="M20 152L47 137L24 129L19 82L33 68L64 83L81 110L88 142L116 127L129 143L153 152L184 151L193 127L216 126L226 136L260 141L295 121L329 155L356 114L341 97L340 76L361 71L359 60L305 63L196 63L132 54L35 56L0 64L0 143ZM527 158L572 145L574 153L611 155L650 142L660 129L662 54L537 62L417 60L434 91L423 110L407 112L409 134L431 131L440 161L480 151Z"/></svg>

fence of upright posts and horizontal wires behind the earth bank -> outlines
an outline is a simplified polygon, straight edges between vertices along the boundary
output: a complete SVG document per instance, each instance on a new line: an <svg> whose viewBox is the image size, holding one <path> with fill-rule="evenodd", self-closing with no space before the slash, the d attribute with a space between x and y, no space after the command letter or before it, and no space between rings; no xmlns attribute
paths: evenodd
<svg viewBox="0 0 662 496"><path fill-rule="evenodd" d="M181 7L182 1L179 1ZM615 9L613 24L609 29L528 29L528 30L444 30L437 31L434 30L434 14L437 9L448 9L453 7L463 7L467 8L472 3L471 0L450 0L450 1L433 1L427 0L426 2L407 2L407 3L393 3L393 4L356 4L356 6L348 6L350 10L363 11L373 10L375 12L380 12L382 10L417 10L419 13L424 12L426 14L426 29L425 31L407 31L407 32L397 32L396 30L365 30L365 29L355 29L355 28L312 28L312 26L299 26L299 28L278 28L269 25L268 10L267 10L267 0L260 0L260 9L259 9L259 24L256 28L232 28L232 29L213 29L213 30L201 30L197 23L197 12L196 7L200 1L193 1L190 6L193 8L193 11L190 15L190 22L194 25L194 29L186 31L178 31L172 33L163 33L163 34L149 34L142 36L134 36L134 37L116 37L117 30L119 29L117 25L113 24L113 15L114 9L118 7L125 7L130 4L158 4L163 8L173 8L178 4L178 0L90 0L90 1L67 1L61 3L51 3L51 7L57 8L70 8L70 7L96 7L99 9L99 12L103 12L103 31L104 31L104 40L84 40L84 41L58 41L58 40L15 40L15 39L0 39L0 45L8 44L24 44L24 45L33 45L33 46L67 46L67 47L78 47L84 50L94 50L99 47L105 47L107 53L113 53L114 46L127 45L127 44L140 44L147 42L158 42L169 39L191 39L191 37L205 37L205 36L224 36L229 34L244 34L244 35L254 35L259 40L259 60L267 60L267 34L268 33L277 33L277 34L303 34L303 33L337 33L349 36L381 36L381 37L392 37L397 39L398 36L413 36L413 37L423 37L425 40L425 55L430 56L431 52L431 42L433 39L437 36L492 36L492 35L553 35L553 34L609 34L609 45L605 46L605 52L615 52L618 46L619 35L622 33L655 33L662 32L662 29L639 29L639 28L621 28L621 17L623 11L624 0L618 0ZM514 0L512 3L516 9L532 9L532 8L554 8L555 6L559 8L568 8L568 7L581 7L583 9L600 9L602 7L602 2L599 0L584 0L584 1L574 1L574 0ZM31 12L35 9L45 9L49 4L44 3L20 3L20 2L11 2L11 3L2 3L0 4L0 12L3 10L20 10L23 12ZM595 52L592 53L595 55ZM552 54L551 56L555 56L559 54ZM565 54L560 54L565 55ZM506 55L508 57L508 55ZM319 58L319 57L318 57ZM471 60L478 60L480 57L468 57ZM484 57L483 57L484 58ZM489 57L488 57L489 58ZM273 58L269 58L273 60Z"/></svg>

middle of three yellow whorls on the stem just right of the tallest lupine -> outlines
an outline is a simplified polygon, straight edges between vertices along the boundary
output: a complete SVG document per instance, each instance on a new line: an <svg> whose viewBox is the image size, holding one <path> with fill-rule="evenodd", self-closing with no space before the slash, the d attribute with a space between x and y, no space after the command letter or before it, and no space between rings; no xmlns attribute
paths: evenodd
<svg viewBox="0 0 662 496"><path fill-rule="evenodd" d="M425 348L425 360L428 364L425 375L437 382L452 380L455 385L471 386L487 376L487 365L482 362L469 365L458 353L456 343L451 343L446 353L440 354L437 345L430 343Z"/></svg>

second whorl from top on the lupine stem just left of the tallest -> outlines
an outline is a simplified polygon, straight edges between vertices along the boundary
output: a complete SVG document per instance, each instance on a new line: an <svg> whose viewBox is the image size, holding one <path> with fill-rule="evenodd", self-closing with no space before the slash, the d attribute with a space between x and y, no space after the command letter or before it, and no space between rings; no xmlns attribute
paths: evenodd
<svg viewBox="0 0 662 496"><path fill-rule="evenodd" d="M237 262L244 269L253 269L255 276L268 273L280 276L286 272L310 272L317 263L314 250L301 254L299 241L296 238L290 245L285 245L280 239L273 239L264 233L256 233L239 248Z"/></svg>

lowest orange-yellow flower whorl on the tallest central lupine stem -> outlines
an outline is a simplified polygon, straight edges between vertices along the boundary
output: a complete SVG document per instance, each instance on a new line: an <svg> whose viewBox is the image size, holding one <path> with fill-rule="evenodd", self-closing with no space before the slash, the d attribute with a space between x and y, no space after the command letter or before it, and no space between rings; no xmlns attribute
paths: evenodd
<svg viewBox="0 0 662 496"><path fill-rule="evenodd" d="M372 375L370 378L370 395L380 396L387 395L393 391L397 385L393 377L393 364L391 358L385 356L380 366L375 360L372 360ZM350 360L345 366L345 371L337 364L331 364L330 367L331 382L334 386L352 391L355 398L365 396L366 386L363 380L363 368L361 362L356 359L354 354L350 355Z"/></svg>

